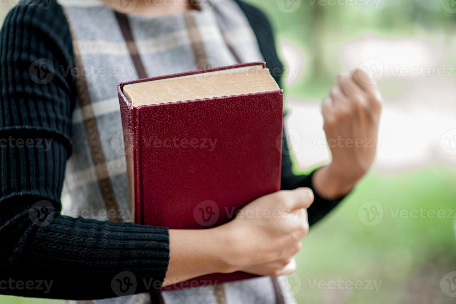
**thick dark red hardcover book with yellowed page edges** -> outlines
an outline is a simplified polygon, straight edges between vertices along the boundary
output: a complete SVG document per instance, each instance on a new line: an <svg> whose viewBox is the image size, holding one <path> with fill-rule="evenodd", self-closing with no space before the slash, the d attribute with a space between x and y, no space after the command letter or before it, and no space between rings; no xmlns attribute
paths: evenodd
<svg viewBox="0 0 456 304"><path fill-rule="evenodd" d="M121 83L118 92L135 223L210 228L280 190L283 95L264 62ZM216 273L162 290L252 277Z"/></svg>

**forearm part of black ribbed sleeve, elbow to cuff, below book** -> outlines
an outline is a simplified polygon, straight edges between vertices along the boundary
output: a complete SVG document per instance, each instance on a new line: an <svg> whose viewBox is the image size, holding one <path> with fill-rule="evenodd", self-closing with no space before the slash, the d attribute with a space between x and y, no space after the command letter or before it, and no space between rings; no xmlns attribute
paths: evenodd
<svg viewBox="0 0 456 304"><path fill-rule="evenodd" d="M52 298L115 297L114 277L132 272L140 293L160 288L169 259L168 229L71 218L42 197L1 202L0 281L43 282L46 288L6 288L1 293ZM28 209L27 205L33 204ZM45 208L40 208L46 206ZM43 213L44 211L44 213ZM147 288L143 284L155 282Z"/></svg>

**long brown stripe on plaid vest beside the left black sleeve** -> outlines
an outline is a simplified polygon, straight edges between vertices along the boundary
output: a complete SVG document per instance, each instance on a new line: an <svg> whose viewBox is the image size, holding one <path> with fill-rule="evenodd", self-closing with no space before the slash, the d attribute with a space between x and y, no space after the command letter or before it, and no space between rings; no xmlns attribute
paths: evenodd
<svg viewBox="0 0 456 304"><path fill-rule="evenodd" d="M67 18L69 20L69 18ZM69 23L69 21L68 21ZM74 34L73 27L69 25L70 32L73 37L73 51L74 51L74 66L79 71L83 70L83 63L79 52L77 37ZM98 133L97 120L93 113L92 101L88 94L87 82L84 74L78 73L76 75L76 88L78 91L78 104L79 107L84 108L82 112L84 130L87 136L88 146L90 149L90 155L93 161L93 168L97 176L98 187L101 192L101 196L104 200L104 205L109 212L114 210L114 219L110 216L112 222L122 222L122 218L119 216L119 205L114 196L114 188L109 178L108 167L106 160L104 159L103 147L100 140L100 134Z"/></svg>

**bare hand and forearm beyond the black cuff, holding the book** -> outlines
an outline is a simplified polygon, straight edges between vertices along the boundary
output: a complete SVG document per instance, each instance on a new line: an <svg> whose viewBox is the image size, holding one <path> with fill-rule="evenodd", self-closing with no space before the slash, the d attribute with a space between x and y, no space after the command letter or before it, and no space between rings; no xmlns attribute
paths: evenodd
<svg viewBox="0 0 456 304"><path fill-rule="evenodd" d="M271 193L211 229L170 229L170 261L163 286L214 272L278 275L288 270L308 230L308 188Z"/></svg>

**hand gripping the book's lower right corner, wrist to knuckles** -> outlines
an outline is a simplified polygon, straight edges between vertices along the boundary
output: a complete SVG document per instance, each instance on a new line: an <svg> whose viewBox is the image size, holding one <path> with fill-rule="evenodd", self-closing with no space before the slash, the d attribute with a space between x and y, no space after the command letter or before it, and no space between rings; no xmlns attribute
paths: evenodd
<svg viewBox="0 0 456 304"><path fill-rule="evenodd" d="M229 263L235 270L256 274L282 273L309 231L306 208L312 202L312 191L298 188L260 197L242 208L236 219L221 226L234 237L236 251ZM259 265L267 267L261 269Z"/></svg>

